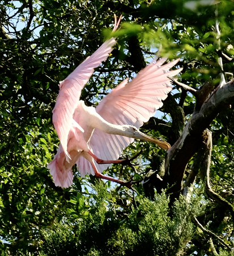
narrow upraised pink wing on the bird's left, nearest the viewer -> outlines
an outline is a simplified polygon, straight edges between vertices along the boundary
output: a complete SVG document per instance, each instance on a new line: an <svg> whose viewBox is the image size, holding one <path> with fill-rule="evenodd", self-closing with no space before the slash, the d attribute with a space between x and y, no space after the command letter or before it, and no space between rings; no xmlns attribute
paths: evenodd
<svg viewBox="0 0 234 256"><path fill-rule="evenodd" d="M107 40L66 77L64 81L60 82L60 91L55 108L53 109L53 124L68 162L70 158L67 151L69 131L72 125L83 131L80 125L73 120L74 110L77 107L77 102L80 100L81 90L89 81L90 76L93 75L94 68L97 68L102 61L107 59L115 43L114 38Z"/></svg>

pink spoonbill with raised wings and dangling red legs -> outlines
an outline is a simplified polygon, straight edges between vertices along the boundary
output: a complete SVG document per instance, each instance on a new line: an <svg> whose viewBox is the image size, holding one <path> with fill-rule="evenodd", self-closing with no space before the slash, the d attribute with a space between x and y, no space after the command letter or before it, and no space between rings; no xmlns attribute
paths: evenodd
<svg viewBox="0 0 234 256"><path fill-rule="evenodd" d="M117 22L115 16L113 31L119 23L120 19ZM74 164L81 177L91 174L132 188L131 181L114 179L102 172L112 163L123 162L118 160L119 156L134 139L155 143L164 150L170 148L169 143L151 138L139 128L161 108L162 100L172 90L169 77L177 75L182 68L169 69L179 59L166 64L165 57L154 59L131 81L120 82L96 108L80 100L81 90L94 68L107 59L115 44L114 37L106 40L59 84L52 121L60 144L48 168L55 185L61 188L72 185Z"/></svg>

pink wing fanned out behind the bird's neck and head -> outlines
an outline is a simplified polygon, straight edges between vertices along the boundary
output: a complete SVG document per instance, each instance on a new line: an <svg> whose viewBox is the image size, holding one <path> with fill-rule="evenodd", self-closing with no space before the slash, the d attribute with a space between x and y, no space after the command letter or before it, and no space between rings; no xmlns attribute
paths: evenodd
<svg viewBox="0 0 234 256"><path fill-rule="evenodd" d="M96 111L107 122L115 125L133 125L139 128L144 122L151 118L157 109L161 108L162 100L172 90L170 79L177 75L182 69L167 72L179 60L174 60L162 65L165 58L154 60L139 74L128 82L127 79L121 82L112 90L96 108ZM123 149L134 139L122 137L120 135L106 134L95 129L90 139L90 147L95 155L103 160L116 160ZM86 159L80 158L78 161L79 170L83 173L91 173L87 169ZM86 170L83 167L86 166ZM102 172L110 164L97 164L98 171Z"/></svg>

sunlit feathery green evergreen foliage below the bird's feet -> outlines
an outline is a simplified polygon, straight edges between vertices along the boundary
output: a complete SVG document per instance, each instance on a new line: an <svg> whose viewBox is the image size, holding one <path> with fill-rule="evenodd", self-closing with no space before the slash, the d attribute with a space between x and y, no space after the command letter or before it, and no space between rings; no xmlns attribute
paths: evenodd
<svg viewBox="0 0 234 256"><path fill-rule="evenodd" d="M138 207L132 207L119 221L116 211L106 207L110 195L105 187L99 185L96 189L97 201L90 210L95 214L76 225L60 224L48 233L43 231L39 242L42 254L39 255L93 255L94 252L97 255L175 255L190 240L193 234L191 216L200 212L197 198L197 202L187 203L181 197L174 205L171 219L165 193L156 195L154 201L137 197Z"/></svg>

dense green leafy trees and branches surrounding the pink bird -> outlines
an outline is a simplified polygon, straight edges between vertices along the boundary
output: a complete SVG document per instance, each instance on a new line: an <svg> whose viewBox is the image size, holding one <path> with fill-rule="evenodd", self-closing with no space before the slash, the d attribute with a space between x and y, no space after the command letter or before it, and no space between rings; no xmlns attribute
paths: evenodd
<svg viewBox="0 0 234 256"><path fill-rule="evenodd" d="M3 255L231 255L233 2L3 0L0 7ZM123 15L118 45L81 98L97 104L157 49L179 57L183 71L161 117L142 127L172 148L136 141L122 158L137 165L106 170L143 179L136 192L82 179L76 168L62 190L47 169L59 143L57 84L102 44L114 14Z"/></svg>

